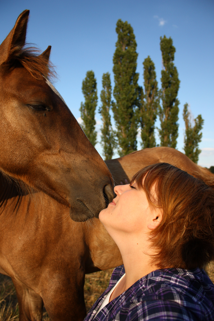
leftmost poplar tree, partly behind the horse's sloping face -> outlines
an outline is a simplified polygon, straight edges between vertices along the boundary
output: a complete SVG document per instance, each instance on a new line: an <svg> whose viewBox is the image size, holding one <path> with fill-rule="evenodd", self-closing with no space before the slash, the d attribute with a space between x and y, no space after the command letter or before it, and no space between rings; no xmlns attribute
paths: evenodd
<svg viewBox="0 0 214 321"><path fill-rule="evenodd" d="M95 131L95 110L97 107L97 81L92 70L87 71L85 79L82 81L82 93L85 102L81 102L80 112L83 120L82 129L93 146L97 143L97 132Z"/></svg>

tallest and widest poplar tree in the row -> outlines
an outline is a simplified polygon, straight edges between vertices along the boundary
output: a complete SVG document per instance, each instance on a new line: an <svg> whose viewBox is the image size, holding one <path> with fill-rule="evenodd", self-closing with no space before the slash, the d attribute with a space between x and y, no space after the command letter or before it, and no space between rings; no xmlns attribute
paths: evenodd
<svg viewBox="0 0 214 321"><path fill-rule="evenodd" d="M137 127L139 116L136 112L140 104L137 67L137 43L131 25L118 20L116 50L113 56L114 98L112 105L118 138L118 153L124 156L137 150Z"/></svg>

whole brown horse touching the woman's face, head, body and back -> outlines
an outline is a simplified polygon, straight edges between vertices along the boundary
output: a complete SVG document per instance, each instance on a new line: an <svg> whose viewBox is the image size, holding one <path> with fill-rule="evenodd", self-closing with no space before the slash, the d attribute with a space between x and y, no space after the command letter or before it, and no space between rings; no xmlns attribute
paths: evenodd
<svg viewBox="0 0 214 321"><path fill-rule="evenodd" d="M86 313L85 273L122 261L97 218L75 222L70 216L75 220L97 216L105 206L103 190L112 197L112 181L55 91L23 66L10 65L23 45L17 35L25 38L27 16L27 11L20 15L0 46L0 80L4 80L0 82L0 272L14 282L21 321L40 321L43 304L52 321L79 321ZM26 102L32 95L33 100ZM214 186L213 174L167 147L106 163L117 184L130 180L143 166L162 161Z"/></svg>

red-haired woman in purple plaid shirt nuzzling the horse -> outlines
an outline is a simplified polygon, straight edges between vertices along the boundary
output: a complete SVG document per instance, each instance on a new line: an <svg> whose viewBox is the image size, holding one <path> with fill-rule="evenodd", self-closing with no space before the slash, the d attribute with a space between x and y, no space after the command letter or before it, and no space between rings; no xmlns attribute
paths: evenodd
<svg viewBox="0 0 214 321"><path fill-rule="evenodd" d="M85 321L214 320L214 191L167 163L141 169L99 219L120 249Z"/></svg>

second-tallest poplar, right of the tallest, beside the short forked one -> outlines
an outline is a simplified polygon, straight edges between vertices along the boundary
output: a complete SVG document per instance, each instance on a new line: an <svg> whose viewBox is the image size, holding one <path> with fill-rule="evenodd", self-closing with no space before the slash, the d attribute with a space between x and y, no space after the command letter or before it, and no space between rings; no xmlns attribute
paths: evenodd
<svg viewBox="0 0 214 321"><path fill-rule="evenodd" d="M175 47L171 38L160 37L160 50L162 52L163 70L161 71L161 100L162 107L159 108L160 145L176 147L178 137L178 105L177 99L180 80L178 79L177 68L175 67Z"/></svg>

